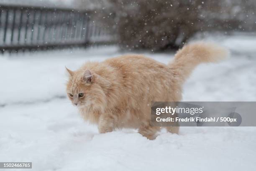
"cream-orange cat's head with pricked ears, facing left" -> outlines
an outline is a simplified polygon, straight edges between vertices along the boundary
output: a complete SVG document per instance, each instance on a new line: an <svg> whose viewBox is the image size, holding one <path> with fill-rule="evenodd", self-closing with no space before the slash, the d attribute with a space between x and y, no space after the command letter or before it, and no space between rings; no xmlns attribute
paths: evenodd
<svg viewBox="0 0 256 171"><path fill-rule="evenodd" d="M67 69L67 68L66 68ZM67 96L74 106L84 109L104 110L107 105L106 93L111 83L89 69L69 73Z"/></svg>

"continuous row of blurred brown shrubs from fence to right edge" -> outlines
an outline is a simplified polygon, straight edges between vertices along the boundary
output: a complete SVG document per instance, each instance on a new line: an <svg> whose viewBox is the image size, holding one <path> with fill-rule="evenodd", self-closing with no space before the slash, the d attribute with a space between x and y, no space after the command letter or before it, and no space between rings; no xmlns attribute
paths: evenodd
<svg viewBox="0 0 256 171"><path fill-rule="evenodd" d="M91 2L98 5L95 20L112 30L128 50L177 48L198 31L252 30L255 25L255 0Z"/></svg>

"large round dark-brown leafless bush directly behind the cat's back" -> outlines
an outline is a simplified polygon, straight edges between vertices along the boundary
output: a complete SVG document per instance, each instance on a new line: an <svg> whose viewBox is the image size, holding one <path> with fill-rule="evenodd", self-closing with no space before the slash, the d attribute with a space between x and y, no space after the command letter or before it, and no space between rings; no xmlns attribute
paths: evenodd
<svg viewBox="0 0 256 171"><path fill-rule="evenodd" d="M126 49L177 48L200 29L199 0L107 0L102 8L98 16Z"/></svg>

